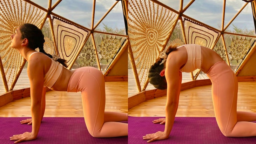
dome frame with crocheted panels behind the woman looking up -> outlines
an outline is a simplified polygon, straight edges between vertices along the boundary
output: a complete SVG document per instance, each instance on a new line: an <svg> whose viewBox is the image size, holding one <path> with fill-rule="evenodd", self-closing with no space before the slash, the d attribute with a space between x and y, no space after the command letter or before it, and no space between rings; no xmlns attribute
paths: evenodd
<svg viewBox="0 0 256 144"><path fill-rule="evenodd" d="M113 1L97 23L94 22L97 2L91 1L90 26L80 25L54 13L61 2L49 0L46 8L30 0L0 1L0 71L6 92L13 90L22 70L26 68L26 60L10 47L10 35L23 23L33 23L42 29L45 51L67 60L68 69L92 66L107 76L126 50L125 30L121 34L99 30L100 23L121 1ZM127 77L124 75L121 79L127 80Z"/></svg>

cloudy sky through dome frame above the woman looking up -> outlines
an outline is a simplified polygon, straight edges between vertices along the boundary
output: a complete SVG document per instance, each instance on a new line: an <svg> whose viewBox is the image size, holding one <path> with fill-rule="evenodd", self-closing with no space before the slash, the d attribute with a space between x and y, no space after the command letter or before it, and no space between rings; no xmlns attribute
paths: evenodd
<svg viewBox="0 0 256 144"><path fill-rule="evenodd" d="M36 4L48 9L48 0L31 0ZM52 0L52 5L57 0ZM116 0L96 0L94 25L105 15L105 13L115 4ZM87 28L92 23L93 0L62 0L53 10L53 13L67 18ZM121 1L112 9L112 11L102 21L112 28L124 28L124 18ZM102 24L100 24L102 26Z"/></svg>

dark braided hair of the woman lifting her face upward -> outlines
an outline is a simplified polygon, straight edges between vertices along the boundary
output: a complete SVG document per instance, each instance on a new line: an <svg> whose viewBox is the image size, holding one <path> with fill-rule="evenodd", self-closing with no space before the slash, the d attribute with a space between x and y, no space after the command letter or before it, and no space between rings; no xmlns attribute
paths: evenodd
<svg viewBox="0 0 256 144"><path fill-rule="evenodd" d="M53 58L52 55L45 52L43 49L43 43L45 43L45 36L42 33L42 30L37 26L31 23L25 23L20 26L21 38L28 39L28 47L31 49L39 48L39 52L46 54L50 58ZM57 59L57 62L62 64L65 68L67 68L67 61L64 59Z"/></svg>

